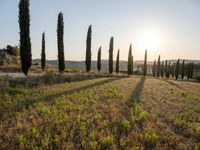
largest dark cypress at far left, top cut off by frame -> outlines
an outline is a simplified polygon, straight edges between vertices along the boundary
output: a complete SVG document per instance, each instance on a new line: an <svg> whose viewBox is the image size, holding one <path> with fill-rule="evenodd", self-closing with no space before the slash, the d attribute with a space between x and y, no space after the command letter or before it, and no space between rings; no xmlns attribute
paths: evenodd
<svg viewBox="0 0 200 150"><path fill-rule="evenodd" d="M30 1L19 1L19 28L20 28L20 60L21 69L25 75L32 63L30 40Z"/></svg>

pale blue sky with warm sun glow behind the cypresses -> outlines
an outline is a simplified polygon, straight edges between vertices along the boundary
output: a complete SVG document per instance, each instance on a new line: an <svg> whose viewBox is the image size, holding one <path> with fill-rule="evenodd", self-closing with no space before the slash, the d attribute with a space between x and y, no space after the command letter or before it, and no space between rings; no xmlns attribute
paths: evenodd
<svg viewBox="0 0 200 150"><path fill-rule="evenodd" d="M0 0L0 48L19 45L18 0ZM92 24L92 60L102 46L108 59L110 37L114 58L127 60L200 59L200 0L30 0L32 57L40 58L46 32L47 59L57 59L57 17L64 14L66 60L84 60L87 29Z"/></svg>

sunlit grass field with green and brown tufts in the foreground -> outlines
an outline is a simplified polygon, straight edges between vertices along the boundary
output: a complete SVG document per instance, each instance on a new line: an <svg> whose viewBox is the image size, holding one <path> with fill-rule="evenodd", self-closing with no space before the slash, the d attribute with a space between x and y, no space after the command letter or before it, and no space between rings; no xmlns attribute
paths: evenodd
<svg viewBox="0 0 200 150"><path fill-rule="evenodd" d="M200 149L199 83L65 81L0 81L0 149Z"/></svg>

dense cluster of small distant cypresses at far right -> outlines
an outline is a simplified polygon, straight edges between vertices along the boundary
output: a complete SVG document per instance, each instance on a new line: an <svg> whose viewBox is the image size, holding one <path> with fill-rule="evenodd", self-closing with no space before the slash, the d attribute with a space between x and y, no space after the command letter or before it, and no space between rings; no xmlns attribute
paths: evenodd
<svg viewBox="0 0 200 150"><path fill-rule="evenodd" d="M193 78L193 70L194 70L194 62L190 62L185 64L185 61L182 61L182 65L180 64L180 59L177 60L176 63L171 64L170 61L162 61L160 60L160 55L158 57L158 61L154 60L153 68L152 68L152 75L154 77L162 77L164 76L169 79L170 76L175 78L176 80L181 76L183 80L186 76L187 79Z"/></svg>

